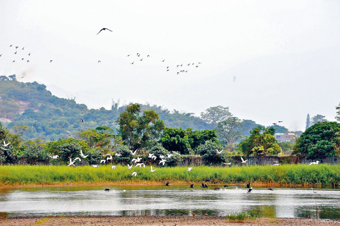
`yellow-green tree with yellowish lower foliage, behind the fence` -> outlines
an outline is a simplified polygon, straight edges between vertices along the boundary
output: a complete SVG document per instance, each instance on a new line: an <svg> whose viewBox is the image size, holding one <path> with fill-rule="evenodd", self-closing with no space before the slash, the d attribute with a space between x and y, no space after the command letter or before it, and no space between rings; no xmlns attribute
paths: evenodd
<svg viewBox="0 0 340 226"><path fill-rule="evenodd" d="M277 155L280 148L274 134L273 127L258 126L250 131L250 137L239 143L237 150L245 155Z"/></svg>

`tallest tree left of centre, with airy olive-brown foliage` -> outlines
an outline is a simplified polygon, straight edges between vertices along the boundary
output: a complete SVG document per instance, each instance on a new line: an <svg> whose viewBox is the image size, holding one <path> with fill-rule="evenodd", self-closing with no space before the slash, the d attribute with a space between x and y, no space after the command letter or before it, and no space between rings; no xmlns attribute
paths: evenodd
<svg viewBox="0 0 340 226"><path fill-rule="evenodd" d="M148 146L151 140L159 138L164 123L152 110L140 114L139 104L129 104L117 119L119 133L129 149L136 150Z"/></svg>

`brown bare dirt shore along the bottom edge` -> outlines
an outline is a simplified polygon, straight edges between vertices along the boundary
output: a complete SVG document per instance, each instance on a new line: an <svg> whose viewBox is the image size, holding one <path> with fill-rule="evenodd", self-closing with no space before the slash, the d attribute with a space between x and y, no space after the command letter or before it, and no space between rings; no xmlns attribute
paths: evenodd
<svg viewBox="0 0 340 226"><path fill-rule="evenodd" d="M340 226L340 220L263 218L243 223L215 216L59 216L0 218L1 226Z"/></svg>

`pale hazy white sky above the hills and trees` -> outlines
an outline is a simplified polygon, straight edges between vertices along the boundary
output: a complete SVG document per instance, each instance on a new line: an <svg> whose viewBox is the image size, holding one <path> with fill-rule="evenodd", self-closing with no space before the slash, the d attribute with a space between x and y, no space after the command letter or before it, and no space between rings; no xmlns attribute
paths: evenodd
<svg viewBox="0 0 340 226"><path fill-rule="evenodd" d="M0 21L0 75L89 108L222 105L303 131L340 102L338 0L0 0Z"/></svg>

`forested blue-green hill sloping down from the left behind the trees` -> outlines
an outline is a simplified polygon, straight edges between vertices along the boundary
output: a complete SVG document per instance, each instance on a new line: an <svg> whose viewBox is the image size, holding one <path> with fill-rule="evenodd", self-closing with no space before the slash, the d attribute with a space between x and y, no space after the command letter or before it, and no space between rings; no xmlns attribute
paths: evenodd
<svg viewBox="0 0 340 226"><path fill-rule="evenodd" d="M72 98L53 96L46 86L37 82L19 82L13 76L0 76L0 121L7 128L27 126L24 139L55 140L73 136L79 130L97 126L117 126L116 119L126 106L112 103L105 108L88 109ZM203 122L192 113L170 112L160 106L141 105L142 110L153 110L165 126L194 130L213 129L214 125ZM81 122L81 119L84 121Z"/></svg>

